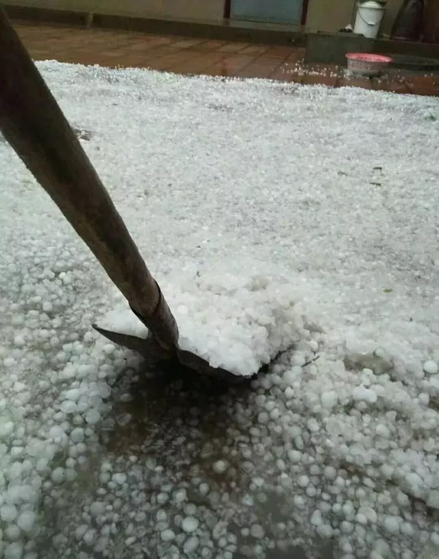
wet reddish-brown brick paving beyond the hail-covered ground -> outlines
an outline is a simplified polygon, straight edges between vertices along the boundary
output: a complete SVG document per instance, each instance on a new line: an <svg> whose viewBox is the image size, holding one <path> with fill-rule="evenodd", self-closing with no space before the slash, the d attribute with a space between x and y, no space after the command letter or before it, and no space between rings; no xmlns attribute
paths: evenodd
<svg viewBox="0 0 439 559"><path fill-rule="evenodd" d="M342 67L304 64L305 49L296 47L41 23L15 22L14 26L35 60L439 95L439 76L392 72L374 80L349 77Z"/></svg>

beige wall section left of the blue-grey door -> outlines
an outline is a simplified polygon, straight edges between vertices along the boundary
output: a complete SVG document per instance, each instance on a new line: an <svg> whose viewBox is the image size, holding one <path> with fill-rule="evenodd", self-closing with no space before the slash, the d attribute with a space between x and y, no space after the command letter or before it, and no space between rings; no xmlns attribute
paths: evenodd
<svg viewBox="0 0 439 559"><path fill-rule="evenodd" d="M5 3L101 14L221 20L225 0L5 0Z"/></svg>

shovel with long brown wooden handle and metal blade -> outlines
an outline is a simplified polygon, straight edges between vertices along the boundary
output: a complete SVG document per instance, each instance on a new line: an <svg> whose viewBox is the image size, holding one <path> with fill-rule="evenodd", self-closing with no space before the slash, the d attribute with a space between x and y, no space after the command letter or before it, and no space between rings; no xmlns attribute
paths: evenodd
<svg viewBox="0 0 439 559"><path fill-rule="evenodd" d="M110 195L0 6L0 131L147 326L140 337L93 327L148 359L227 381L240 377L178 346L178 326Z"/></svg>

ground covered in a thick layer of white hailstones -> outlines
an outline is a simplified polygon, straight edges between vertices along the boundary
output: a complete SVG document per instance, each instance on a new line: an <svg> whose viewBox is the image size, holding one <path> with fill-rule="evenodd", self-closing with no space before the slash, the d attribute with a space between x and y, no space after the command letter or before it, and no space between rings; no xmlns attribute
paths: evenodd
<svg viewBox="0 0 439 559"><path fill-rule="evenodd" d="M121 298L1 139L0 556L437 556L437 100L39 67L183 343L274 361L93 333Z"/></svg>

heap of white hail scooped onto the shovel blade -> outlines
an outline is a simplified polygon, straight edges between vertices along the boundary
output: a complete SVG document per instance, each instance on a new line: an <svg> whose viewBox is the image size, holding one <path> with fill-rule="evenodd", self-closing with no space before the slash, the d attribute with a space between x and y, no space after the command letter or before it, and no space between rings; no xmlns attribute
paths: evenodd
<svg viewBox="0 0 439 559"><path fill-rule="evenodd" d="M302 337L292 286L266 276L180 272L162 289L178 324L180 347L237 376L251 377ZM99 325L147 337L145 326L119 299Z"/></svg>

